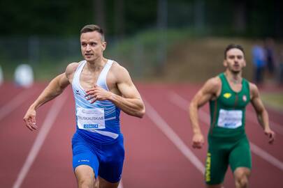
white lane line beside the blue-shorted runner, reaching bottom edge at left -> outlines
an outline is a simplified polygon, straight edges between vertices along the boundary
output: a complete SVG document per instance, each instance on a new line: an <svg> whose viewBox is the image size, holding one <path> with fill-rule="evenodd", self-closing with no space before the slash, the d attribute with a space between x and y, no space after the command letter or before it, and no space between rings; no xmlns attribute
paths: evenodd
<svg viewBox="0 0 283 188"><path fill-rule="evenodd" d="M46 136L48 135L50 128L52 127L53 123L55 122L56 117L59 114L61 108L63 107L63 104L66 102L67 98L68 98L68 94L61 95L52 104L52 107L48 111L48 115L46 116L46 118L43 122L43 125L42 125L41 129L39 130L38 135L36 136L36 140L34 141L34 145L32 146L32 148L29 152L29 155L27 156L27 159L24 162L24 166L22 166L22 169L20 170L20 173L17 176L17 180L15 180L13 188L19 188L22 185L24 178L26 177L27 173L29 172L31 165L34 163L34 159L36 159L36 156L38 155L38 152L41 149L41 146L43 145L43 142L44 142Z"/></svg>

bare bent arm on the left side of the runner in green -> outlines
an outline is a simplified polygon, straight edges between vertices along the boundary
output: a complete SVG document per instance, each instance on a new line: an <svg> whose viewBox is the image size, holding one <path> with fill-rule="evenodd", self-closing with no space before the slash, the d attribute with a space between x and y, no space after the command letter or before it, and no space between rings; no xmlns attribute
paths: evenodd
<svg viewBox="0 0 283 188"><path fill-rule="evenodd" d="M217 96L221 81L218 77L209 79L205 82L204 86L196 93L191 104L189 105L189 118L191 120L191 127L193 129L193 148L202 148L204 139L201 132L201 127L198 123L198 109L202 107L206 102L212 100Z"/></svg>

